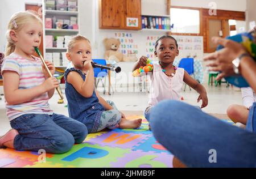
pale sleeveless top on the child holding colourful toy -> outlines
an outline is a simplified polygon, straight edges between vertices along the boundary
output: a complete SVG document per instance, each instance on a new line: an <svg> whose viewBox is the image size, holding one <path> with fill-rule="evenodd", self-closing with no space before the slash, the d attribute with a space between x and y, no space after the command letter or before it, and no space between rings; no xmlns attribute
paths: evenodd
<svg viewBox="0 0 256 179"><path fill-rule="evenodd" d="M175 75L168 77L163 73L159 63L154 63L153 66L148 105L154 106L162 100L181 100L184 69L177 68Z"/></svg>

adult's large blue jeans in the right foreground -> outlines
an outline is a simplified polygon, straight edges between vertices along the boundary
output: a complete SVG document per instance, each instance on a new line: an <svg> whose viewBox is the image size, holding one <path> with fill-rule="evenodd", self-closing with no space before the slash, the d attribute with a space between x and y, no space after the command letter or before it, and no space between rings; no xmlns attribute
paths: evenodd
<svg viewBox="0 0 256 179"><path fill-rule="evenodd" d="M195 106L166 100L151 109L150 124L158 142L188 167L256 167L255 114L256 103L244 130Z"/></svg>

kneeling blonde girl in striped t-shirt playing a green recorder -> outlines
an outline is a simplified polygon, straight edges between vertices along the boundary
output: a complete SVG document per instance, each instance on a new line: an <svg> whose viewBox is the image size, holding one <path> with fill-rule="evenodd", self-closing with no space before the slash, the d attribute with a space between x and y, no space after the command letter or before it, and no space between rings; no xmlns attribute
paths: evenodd
<svg viewBox="0 0 256 179"><path fill-rule="evenodd" d="M61 154L88 134L86 126L72 118L55 114L48 100L59 86L39 58L32 56L42 36L42 20L31 12L14 14L8 24L6 58L2 75L11 129L0 138L0 147ZM53 75L55 67L46 64Z"/></svg>

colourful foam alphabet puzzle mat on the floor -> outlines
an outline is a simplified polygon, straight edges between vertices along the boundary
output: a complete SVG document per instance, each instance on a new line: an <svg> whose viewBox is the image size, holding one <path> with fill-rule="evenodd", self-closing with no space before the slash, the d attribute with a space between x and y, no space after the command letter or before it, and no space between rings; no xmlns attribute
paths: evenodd
<svg viewBox="0 0 256 179"><path fill-rule="evenodd" d="M127 118L143 118L127 116ZM230 122L230 120L224 120ZM89 134L65 154L0 149L0 168L172 168L173 155L156 141L143 119L138 129Z"/></svg>

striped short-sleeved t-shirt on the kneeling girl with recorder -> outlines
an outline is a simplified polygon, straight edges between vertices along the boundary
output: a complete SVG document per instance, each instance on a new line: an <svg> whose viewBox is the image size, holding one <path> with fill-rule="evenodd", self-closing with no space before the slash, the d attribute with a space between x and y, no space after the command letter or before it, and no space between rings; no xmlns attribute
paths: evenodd
<svg viewBox="0 0 256 179"><path fill-rule="evenodd" d="M40 58L26 59L18 54L11 53L3 60L2 74L5 71L15 71L19 74L19 89L29 89L39 86L46 80L42 71ZM43 93L26 103L9 105L6 101L7 117L9 120L23 114L53 114L48 104L48 93Z"/></svg>

